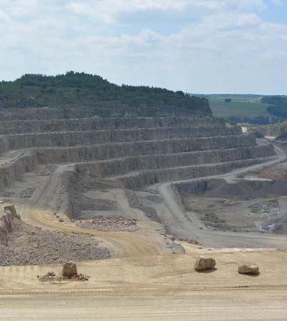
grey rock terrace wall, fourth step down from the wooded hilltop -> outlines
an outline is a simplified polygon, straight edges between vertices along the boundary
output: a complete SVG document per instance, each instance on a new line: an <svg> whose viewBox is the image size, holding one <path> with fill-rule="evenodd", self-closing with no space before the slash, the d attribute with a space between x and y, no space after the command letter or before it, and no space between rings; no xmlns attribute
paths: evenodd
<svg viewBox="0 0 287 321"><path fill-rule="evenodd" d="M39 148L35 151L39 163L78 163L125 156L181 153L245 146L256 146L254 136L218 136L132 143L107 143L97 146L71 148Z"/></svg>

